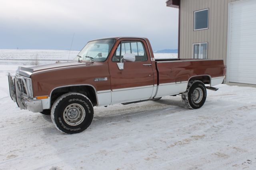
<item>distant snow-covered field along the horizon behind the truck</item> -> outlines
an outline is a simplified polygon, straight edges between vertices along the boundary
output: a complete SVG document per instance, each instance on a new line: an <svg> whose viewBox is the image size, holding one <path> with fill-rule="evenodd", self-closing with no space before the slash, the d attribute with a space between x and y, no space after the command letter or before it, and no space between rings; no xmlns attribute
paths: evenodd
<svg viewBox="0 0 256 170"><path fill-rule="evenodd" d="M49 49L0 49L0 65L38 65L73 60L79 51ZM156 58L177 58L176 53L154 53Z"/></svg>

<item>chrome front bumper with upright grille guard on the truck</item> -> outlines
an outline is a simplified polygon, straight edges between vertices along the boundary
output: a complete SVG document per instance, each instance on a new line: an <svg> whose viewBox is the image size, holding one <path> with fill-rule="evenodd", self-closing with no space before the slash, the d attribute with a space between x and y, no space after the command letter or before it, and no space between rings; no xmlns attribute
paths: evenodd
<svg viewBox="0 0 256 170"><path fill-rule="evenodd" d="M20 85L18 79L22 79L22 81L24 81L23 77L12 76L10 73L8 74L10 97L12 100L17 103L20 109L28 109L32 112L42 112L42 101L32 99L32 97L29 96L29 93L27 96L24 95L19 88ZM24 85L26 91L28 91L26 83L24 83Z"/></svg>

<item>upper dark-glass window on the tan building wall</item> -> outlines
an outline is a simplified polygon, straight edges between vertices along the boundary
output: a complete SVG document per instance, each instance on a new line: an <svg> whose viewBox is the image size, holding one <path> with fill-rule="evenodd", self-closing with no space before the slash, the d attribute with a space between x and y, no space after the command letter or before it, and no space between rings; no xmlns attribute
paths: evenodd
<svg viewBox="0 0 256 170"><path fill-rule="evenodd" d="M194 12L194 31L208 29L209 9Z"/></svg>

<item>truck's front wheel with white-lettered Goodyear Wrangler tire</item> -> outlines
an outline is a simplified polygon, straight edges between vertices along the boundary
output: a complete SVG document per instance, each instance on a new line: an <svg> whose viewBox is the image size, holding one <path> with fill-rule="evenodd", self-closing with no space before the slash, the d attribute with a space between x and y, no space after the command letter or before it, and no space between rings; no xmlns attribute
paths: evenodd
<svg viewBox="0 0 256 170"><path fill-rule="evenodd" d="M67 108L74 108L77 113L75 115L84 115L79 117L73 115L74 119L78 120L77 124L70 119L68 113L71 110L67 110ZM58 130L66 134L74 134L82 132L90 126L93 114L93 105L88 97L80 93L66 93L60 96L52 105L51 118Z"/></svg>

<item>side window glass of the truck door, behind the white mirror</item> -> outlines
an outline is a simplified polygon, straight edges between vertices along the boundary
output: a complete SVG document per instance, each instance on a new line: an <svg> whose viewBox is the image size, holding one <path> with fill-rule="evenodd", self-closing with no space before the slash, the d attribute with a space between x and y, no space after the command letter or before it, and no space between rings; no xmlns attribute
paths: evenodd
<svg viewBox="0 0 256 170"><path fill-rule="evenodd" d="M120 62L125 53L133 53L136 61L147 61L145 47L140 41L122 41L112 57L113 62ZM123 61L122 61L123 62Z"/></svg>

